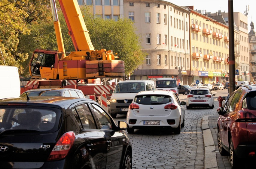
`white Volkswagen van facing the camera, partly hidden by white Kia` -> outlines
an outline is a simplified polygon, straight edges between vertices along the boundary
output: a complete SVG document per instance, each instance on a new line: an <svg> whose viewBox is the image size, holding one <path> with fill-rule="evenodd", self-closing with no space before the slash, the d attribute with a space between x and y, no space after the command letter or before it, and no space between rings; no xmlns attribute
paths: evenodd
<svg viewBox="0 0 256 169"><path fill-rule="evenodd" d="M125 80L120 81L114 88L110 98L110 114L116 118L117 114L127 114L128 108L138 92L156 90L153 80Z"/></svg>

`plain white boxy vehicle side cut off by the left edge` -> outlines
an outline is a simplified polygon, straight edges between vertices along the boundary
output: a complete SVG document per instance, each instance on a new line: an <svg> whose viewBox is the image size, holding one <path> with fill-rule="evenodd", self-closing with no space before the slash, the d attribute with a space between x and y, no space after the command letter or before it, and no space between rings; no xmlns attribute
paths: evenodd
<svg viewBox="0 0 256 169"><path fill-rule="evenodd" d="M20 96L20 76L14 66L0 66L0 99Z"/></svg>

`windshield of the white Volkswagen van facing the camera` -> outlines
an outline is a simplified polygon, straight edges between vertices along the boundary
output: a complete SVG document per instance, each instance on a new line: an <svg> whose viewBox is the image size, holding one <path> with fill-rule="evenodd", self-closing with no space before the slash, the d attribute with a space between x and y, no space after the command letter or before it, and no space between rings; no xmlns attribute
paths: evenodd
<svg viewBox="0 0 256 169"><path fill-rule="evenodd" d="M117 83L114 89L114 93L138 93L144 91L144 83L140 82L129 82L129 83Z"/></svg>

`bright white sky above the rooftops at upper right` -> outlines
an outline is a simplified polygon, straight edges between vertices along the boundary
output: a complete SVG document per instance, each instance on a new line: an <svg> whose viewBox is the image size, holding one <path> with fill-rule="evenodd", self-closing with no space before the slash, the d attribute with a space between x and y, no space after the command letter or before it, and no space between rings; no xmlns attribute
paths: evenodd
<svg viewBox="0 0 256 169"><path fill-rule="evenodd" d="M218 10L221 12L228 12L228 1L229 0L214 0L214 1L206 1L206 0L166 0L175 5L179 6L194 6L194 10L206 10L206 12L215 13ZM250 23L251 18L254 25L256 24L256 1L254 0L233 0L233 12L241 12L244 13L246 11L246 6L249 5L248 11L248 32L250 31Z"/></svg>

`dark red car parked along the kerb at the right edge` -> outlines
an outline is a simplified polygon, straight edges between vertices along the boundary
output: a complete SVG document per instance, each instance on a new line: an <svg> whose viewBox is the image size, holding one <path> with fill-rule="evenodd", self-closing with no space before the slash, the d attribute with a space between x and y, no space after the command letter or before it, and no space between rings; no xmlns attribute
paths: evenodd
<svg viewBox="0 0 256 169"><path fill-rule="evenodd" d="M235 90L224 107L218 108L218 148L222 156L230 156L232 168L243 159L256 158L256 87L242 85Z"/></svg>

